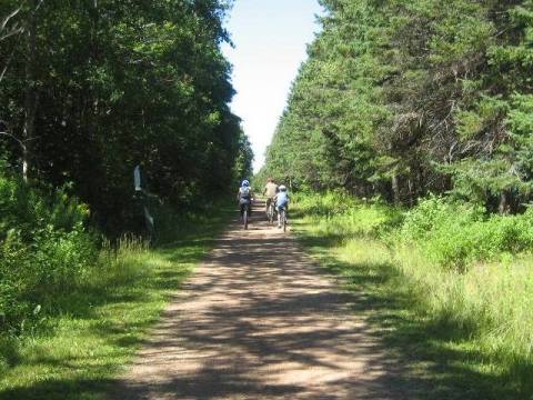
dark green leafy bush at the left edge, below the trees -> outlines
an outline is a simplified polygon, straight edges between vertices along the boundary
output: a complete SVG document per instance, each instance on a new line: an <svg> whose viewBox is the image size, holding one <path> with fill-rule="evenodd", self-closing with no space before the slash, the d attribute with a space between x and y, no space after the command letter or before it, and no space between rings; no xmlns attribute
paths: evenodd
<svg viewBox="0 0 533 400"><path fill-rule="evenodd" d="M98 247L87 217L63 190L47 194L0 176L0 334L22 333L90 273Z"/></svg>

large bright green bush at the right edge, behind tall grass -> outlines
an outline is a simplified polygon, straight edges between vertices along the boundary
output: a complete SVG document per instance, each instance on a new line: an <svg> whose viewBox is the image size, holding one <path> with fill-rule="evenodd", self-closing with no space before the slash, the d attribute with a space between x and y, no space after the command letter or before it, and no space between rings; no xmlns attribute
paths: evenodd
<svg viewBox="0 0 533 400"><path fill-rule="evenodd" d="M440 266L462 269L474 261L529 249L533 244L533 212L486 216L482 209L430 197L405 213L393 239L419 247Z"/></svg>

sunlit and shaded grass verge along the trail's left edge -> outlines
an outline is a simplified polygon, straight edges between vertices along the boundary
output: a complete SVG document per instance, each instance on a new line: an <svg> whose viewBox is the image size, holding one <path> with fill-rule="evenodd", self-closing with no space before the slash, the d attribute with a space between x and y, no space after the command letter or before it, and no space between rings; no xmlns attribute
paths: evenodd
<svg viewBox="0 0 533 400"><path fill-rule="evenodd" d="M172 292L232 217L231 208L179 227L157 249L127 241L84 284L61 299L39 333L2 339L0 399L101 399L131 360ZM177 229L178 230L178 229Z"/></svg>

